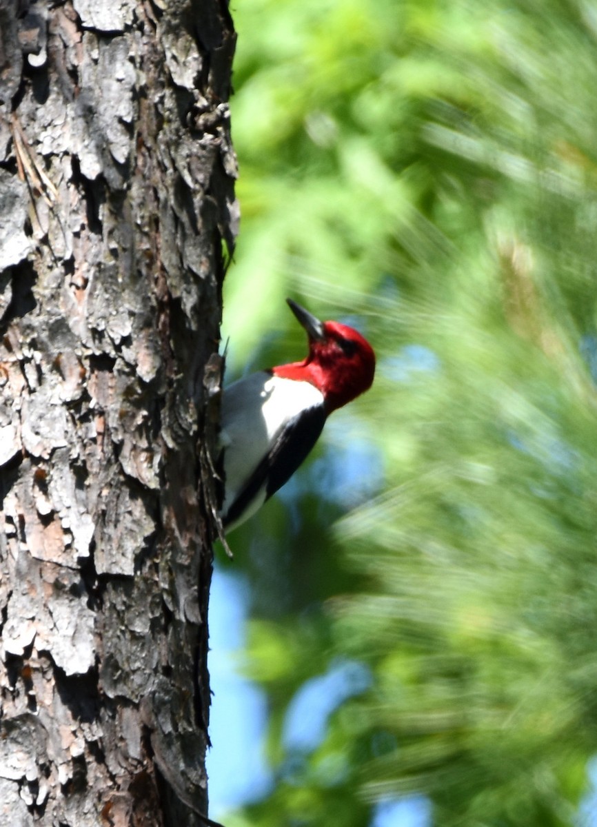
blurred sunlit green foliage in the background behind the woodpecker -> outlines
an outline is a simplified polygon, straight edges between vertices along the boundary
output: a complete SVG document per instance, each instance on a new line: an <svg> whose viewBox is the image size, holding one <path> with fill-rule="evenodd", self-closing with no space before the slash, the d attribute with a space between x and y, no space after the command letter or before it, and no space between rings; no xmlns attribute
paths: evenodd
<svg viewBox="0 0 597 827"><path fill-rule="evenodd" d="M300 352L294 328L256 351L286 294L358 314L375 385L320 452L365 434L383 482L332 529L313 464L298 532L279 500L234 536L279 783L230 827L361 827L416 792L437 827L572 825L597 752L597 7L235 17L233 366ZM289 702L334 657L370 688L293 751Z"/></svg>

